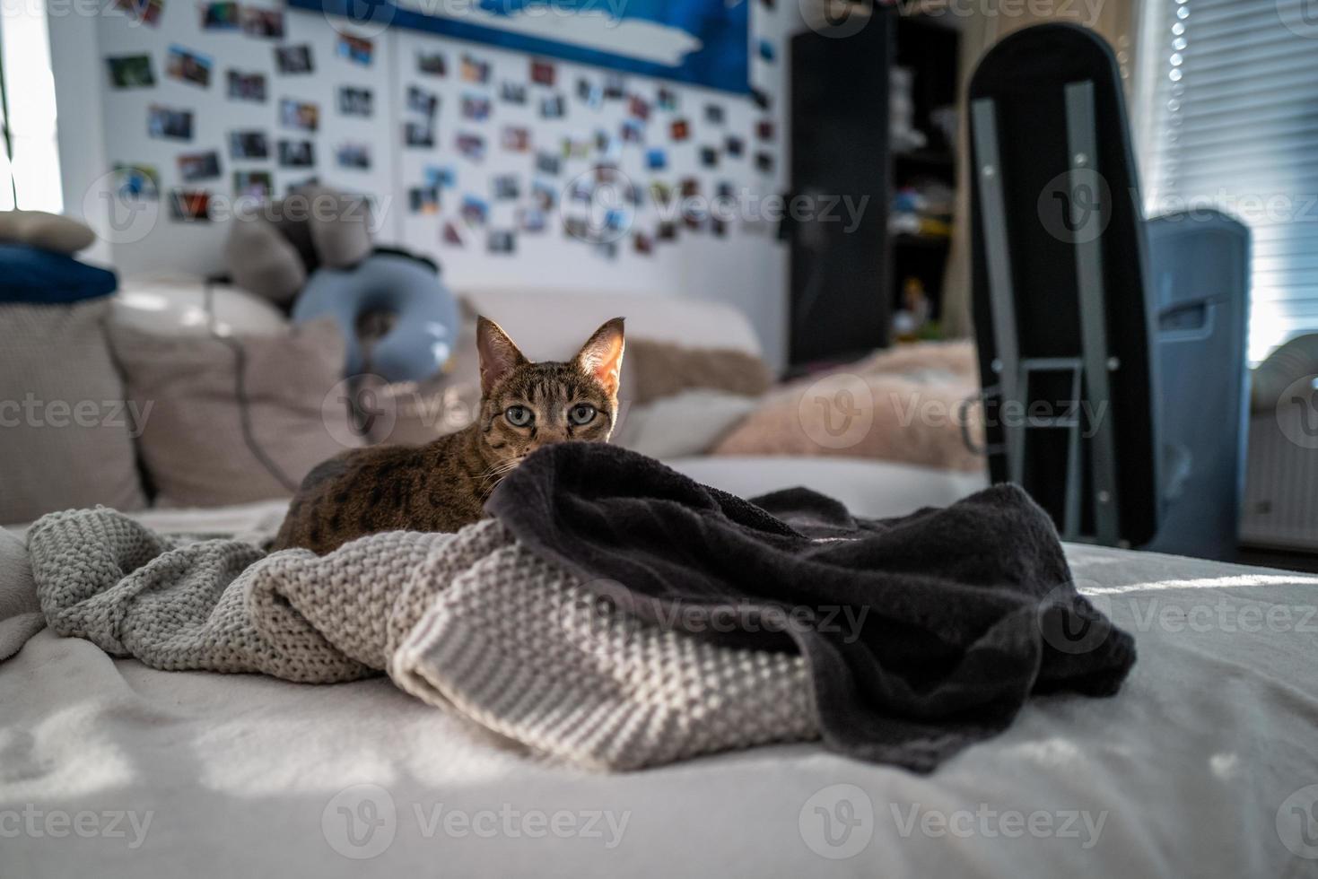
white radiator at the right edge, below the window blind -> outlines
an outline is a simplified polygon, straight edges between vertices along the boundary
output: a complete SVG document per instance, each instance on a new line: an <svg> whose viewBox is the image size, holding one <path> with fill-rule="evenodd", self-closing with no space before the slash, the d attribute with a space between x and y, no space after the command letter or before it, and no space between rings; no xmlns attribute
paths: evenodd
<svg viewBox="0 0 1318 879"><path fill-rule="evenodd" d="M1318 552L1318 410L1251 416L1248 448L1240 542Z"/></svg>

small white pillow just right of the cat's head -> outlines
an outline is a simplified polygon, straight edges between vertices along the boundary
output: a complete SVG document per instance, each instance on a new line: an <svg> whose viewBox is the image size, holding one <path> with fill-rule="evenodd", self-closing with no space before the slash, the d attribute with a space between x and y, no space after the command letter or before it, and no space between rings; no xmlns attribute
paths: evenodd
<svg viewBox="0 0 1318 879"><path fill-rule="evenodd" d="M650 457L704 455L759 406L755 397L687 390L621 412L613 444Z"/></svg>

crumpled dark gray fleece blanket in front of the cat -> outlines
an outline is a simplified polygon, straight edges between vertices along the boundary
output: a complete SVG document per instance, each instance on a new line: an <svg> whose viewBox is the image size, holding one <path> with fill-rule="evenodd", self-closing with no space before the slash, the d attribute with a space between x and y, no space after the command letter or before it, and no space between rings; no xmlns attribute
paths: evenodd
<svg viewBox="0 0 1318 879"><path fill-rule="evenodd" d="M1135 642L1074 588L1048 515L998 485L853 518L807 489L743 501L604 444L542 448L486 510L651 622L797 650L825 743L928 772L1033 693L1110 696Z"/></svg>

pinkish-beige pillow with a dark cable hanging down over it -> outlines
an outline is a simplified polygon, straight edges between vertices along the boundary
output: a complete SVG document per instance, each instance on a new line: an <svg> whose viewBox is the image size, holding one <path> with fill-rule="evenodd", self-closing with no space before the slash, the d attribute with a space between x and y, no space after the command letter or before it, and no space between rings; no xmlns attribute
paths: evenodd
<svg viewBox="0 0 1318 879"><path fill-rule="evenodd" d="M344 341L330 319L223 339L116 324L111 339L129 399L150 406L138 444L157 506L287 497L316 464L360 444L340 383Z"/></svg>

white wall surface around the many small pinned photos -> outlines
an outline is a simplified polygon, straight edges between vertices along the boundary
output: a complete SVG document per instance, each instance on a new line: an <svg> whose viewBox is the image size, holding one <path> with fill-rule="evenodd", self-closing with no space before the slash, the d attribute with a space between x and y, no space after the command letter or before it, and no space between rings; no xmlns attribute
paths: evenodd
<svg viewBox="0 0 1318 879"><path fill-rule="evenodd" d="M768 9L758 0L743 1L754 3L751 82L771 96L770 111L760 111L745 96L627 76L627 92L638 94L651 104L645 145L625 144L621 153L616 154L622 171L638 187L647 188L652 181L663 181L676 188L683 178L695 177L700 179L701 192L705 195L712 195L720 182L730 183L741 198L749 200L783 191L787 161L783 141L787 121L784 36L799 20L795 5L787 12ZM597 129L606 130L614 138L621 136L621 124L629 115L626 100L609 100L596 109L576 94L579 78L602 84L610 71L552 61L556 67L555 86L538 86L530 82L530 57L525 54L398 28L374 38L374 62L362 67L335 54L337 32L322 16L287 11L283 42L310 43L316 71L311 76L285 76L275 72L273 41L240 32L202 30L198 7L185 0L166 0L157 28L141 25L109 9L96 16L90 29L86 18L74 16L51 18L50 30L59 100L65 203L70 212L88 212L88 220L111 241L111 260L125 277L158 271L223 271L224 228L223 224L174 221L167 216L163 199L153 208L157 213L150 223L142 224L132 217L132 223L120 224L124 228L115 224L107 228L105 217L96 215L109 208L103 199L95 196L95 191L105 186L107 175L116 162L156 166L162 178L162 194L175 186L198 186L212 190L216 195L229 196L233 171L248 167L270 170L274 174L275 192L282 194L290 182L314 173L332 186L373 194L381 208L377 240L436 258L452 286L579 286L619 294L681 294L716 299L746 311L771 361L782 364L784 360L787 257L786 249L774 240L775 229L770 223L735 221L722 239L714 237L708 229L691 232L681 228L675 242L655 241L654 253L645 256L634 250L633 236L641 232L652 237L658 223L656 211L646 194L629 233L617 242L614 258L602 256L589 244L567 237L554 213L547 217L547 228L540 233L518 231L514 254L488 252L488 231L515 228L515 208L530 202L532 181L544 179L561 188L579 174L593 169L601 158L592 149L588 158L564 159L556 177L546 177L535 171L536 150L558 152L564 137L593 138ZM775 63L759 59L755 47L760 37L767 37L774 43L778 54ZM214 59L208 90L165 75L166 55L175 43ZM444 53L448 61L447 76L432 78L416 71L415 53L419 47ZM134 53L152 55L158 84L148 90L111 88L104 58ZM92 57L88 58L88 54ZM488 84L461 80L459 67L463 54L492 65ZM225 84L229 67L266 72L270 92L268 101L249 104L229 100ZM505 80L526 87L525 105L501 100L500 87ZM95 83L95 87L88 88L88 83ZM341 84L362 86L374 92L373 119L362 121L337 112L336 92ZM406 109L406 90L410 84L440 96L438 142L434 150L410 149L402 144L402 123L411 117ZM676 111L658 108L655 98L660 87L676 92ZM488 121L472 123L463 119L461 98L465 94L490 99L493 112ZM539 100L550 94L564 96L564 119L540 117ZM278 124L282 96L320 105L320 130L306 136L316 144L316 167L312 171L286 170L278 167L273 157L260 162L232 161L228 153L228 132L232 129L264 129L272 150L279 137L302 137ZM149 138L146 112L153 103L192 108L196 125L194 140L179 142ZM722 125L705 121L706 103L724 108ZM685 142L672 142L670 138L670 124L679 117L691 123L692 136ZM774 123L775 137L770 142L757 137L755 124L762 119ZM505 125L529 128L532 136L531 150L503 150L500 138ZM457 153L455 138L459 132L485 137L486 158L482 162L472 162ZM721 149L726 134L739 136L745 141L746 149L741 158L730 158ZM333 149L344 141L370 145L373 167L369 171L340 169L335 163ZM700 165L699 150L705 145L720 146L720 162L714 169ZM647 146L660 146L668 152L667 170L646 170ZM195 184L182 183L178 179L177 156L211 149L220 153L221 177ZM770 174L755 169L755 154L760 150L774 157L775 169ZM422 184L426 166L451 166L456 171L456 184L442 192L438 216L411 213L407 206L407 190ZM523 190L521 199L505 203L493 198L490 181L501 174L518 175ZM488 227L469 228L461 223L459 210L467 194L489 202ZM444 221L453 221L459 227L464 246L455 248L443 241Z"/></svg>

